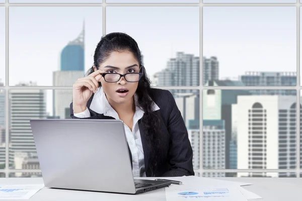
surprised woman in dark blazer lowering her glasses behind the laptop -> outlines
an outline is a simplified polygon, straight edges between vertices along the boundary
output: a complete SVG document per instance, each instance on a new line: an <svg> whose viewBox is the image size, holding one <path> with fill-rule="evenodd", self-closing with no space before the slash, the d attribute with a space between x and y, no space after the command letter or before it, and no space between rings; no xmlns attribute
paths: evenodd
<svg viewBox="0 0 302 201"><path fill-rule="evenodd" d="M127 34L102 37L94 65L73 84L70 117L122 120L133 176L194 175L175 99L168 90L150 88L138 45Z"/></svg>

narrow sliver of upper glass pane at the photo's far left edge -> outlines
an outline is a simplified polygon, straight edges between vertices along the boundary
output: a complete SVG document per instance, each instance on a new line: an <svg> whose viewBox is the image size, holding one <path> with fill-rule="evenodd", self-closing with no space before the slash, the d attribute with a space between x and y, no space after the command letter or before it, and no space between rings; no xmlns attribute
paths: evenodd
<svg viewBox="0 0 302 201"><path fill-rule="evenodd" d="M0 86L5 85L5 7L0 7Z"/></svg>

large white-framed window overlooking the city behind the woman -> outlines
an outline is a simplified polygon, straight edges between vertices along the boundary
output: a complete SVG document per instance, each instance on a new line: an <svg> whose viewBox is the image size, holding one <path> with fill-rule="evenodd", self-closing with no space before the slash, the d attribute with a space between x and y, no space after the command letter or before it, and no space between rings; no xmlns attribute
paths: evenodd
<svg viewBox="0 0 302 201"><path fill-rule="evenodd" d="M301 94L296 91L296 22L302 15L295 3L0 0L0 169L5 171L0 176L41 176L29 119L69 118L72 84L93 65L100 38L117 31L137 41L152 87L173 94L196 175L300 175L295 117L301 114L295 102ZM277 152L271 151L272 142L279 143ZM213 169L217 172L205 174Z"/></svg>

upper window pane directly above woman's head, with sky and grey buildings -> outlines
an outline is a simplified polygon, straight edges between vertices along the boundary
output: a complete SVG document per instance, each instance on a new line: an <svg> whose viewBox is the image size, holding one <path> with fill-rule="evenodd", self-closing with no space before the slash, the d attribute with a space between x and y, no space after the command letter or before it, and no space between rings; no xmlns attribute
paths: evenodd
<svg viewBox="0 0 302 201"><path fill-rule="evenodd" d="M106 9L106 32L137 42L153 85L199 85L199 7Z"/></svg>

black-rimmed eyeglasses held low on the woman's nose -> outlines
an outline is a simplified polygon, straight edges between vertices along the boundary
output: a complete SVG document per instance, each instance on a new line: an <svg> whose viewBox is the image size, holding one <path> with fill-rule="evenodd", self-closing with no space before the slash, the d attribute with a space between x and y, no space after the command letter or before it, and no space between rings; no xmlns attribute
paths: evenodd
<svg viewBox="0 0 302 201"><path fill-rule="evenodd" d="M141 65L142 72L129 72L125 74L120 73L100 73L106 82L118 82L121 77L124 77L127 82L138 82L143 75L143 66Z"/></svg>

